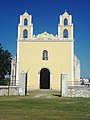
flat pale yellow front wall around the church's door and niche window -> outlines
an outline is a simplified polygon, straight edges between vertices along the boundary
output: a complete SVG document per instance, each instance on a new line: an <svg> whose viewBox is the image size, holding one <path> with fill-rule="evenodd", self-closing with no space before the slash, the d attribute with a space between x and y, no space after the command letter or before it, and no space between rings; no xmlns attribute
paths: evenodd
<svg viewBox="0 0 90 120"><path fill-rule="evenodd" d="M60 89L61 74L68 74L72 81L72 43L73 41L19 41L18 73L27 72L28 89L39 89L40 70L50 70L50 88ZM43 50L48 51L48 60L42 60Z"/></svg>

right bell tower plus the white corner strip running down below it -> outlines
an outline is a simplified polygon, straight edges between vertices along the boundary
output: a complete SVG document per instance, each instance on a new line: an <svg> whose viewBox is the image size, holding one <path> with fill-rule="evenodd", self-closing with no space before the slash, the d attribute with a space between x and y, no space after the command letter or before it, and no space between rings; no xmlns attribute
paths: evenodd
<svg viewBox="0 0 90 120"><path fill-rule="evenodd" d="M58 24L58 38L62 41L71 42L71 68L72 68L72 85L74 84L74 35L72 15L67 11L60 15L60 23Z"/></svg>

